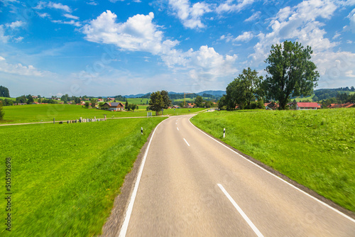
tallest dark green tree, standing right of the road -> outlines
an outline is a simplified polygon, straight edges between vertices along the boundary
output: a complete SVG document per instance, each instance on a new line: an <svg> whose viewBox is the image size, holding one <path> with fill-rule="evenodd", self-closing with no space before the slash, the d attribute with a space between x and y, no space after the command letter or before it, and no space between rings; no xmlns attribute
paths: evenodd
<svg viewBox="0 0 355 237"><path fill-rule="evenodd" d="M279 109L285 109L290 97L310 96L317 87L319 73L311 59L312 49L300 43L285 41L271 46L266 59L264 87L268 98L276 99Z"/></svg>

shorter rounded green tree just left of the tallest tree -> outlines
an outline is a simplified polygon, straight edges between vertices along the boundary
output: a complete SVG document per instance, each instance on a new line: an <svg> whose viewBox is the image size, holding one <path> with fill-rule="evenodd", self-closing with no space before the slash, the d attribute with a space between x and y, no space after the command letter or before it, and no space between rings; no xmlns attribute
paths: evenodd
<svg viewBox="0 0 355 237"><path fill-rule="evenodd" d="M251 109L251 103L263 96L261 82L263 77L258 77L256 70L244 69L243 72L226 87L225 102L227 109Z"/></svg>

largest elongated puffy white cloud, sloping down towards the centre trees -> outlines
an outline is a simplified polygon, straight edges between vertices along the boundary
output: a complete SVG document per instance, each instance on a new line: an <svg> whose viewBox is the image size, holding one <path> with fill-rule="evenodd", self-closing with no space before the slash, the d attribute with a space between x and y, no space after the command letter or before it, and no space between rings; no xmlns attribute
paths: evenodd
<svg viewBox="0 0 355 237"><path fill-rule="evenodd" d="M82 28L85 38L95 43L113 44L121 50L158 55L173 70L189 70L190 77L202 73L215 79L236 71L236 55L219 55L207 45L186 52L175 49L178 40L165 39L153 23L153 13L132 16L124 23L116 23L116 18L111 11L102 13Z"/></svg>

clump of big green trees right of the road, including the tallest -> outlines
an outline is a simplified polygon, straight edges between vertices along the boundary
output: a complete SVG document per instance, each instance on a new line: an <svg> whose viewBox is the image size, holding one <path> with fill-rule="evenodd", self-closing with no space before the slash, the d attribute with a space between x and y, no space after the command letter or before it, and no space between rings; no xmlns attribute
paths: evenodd
<svg viewBox="0 0 355 237"><path fill-rule="evenodd" d="M263 108L263 101L278 101L278 109L286 109L291 97L310 96L317 87L319 73L312 62L312 49L300 43L285 41L271 46L265 62L266 78L250 67L244 69L226 87L219 108Z"/></svg>

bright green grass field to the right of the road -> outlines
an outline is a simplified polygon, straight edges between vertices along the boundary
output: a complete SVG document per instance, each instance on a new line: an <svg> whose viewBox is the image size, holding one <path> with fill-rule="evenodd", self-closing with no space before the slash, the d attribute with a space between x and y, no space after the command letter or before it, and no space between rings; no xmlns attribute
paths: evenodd
<svg viewBox="0 0 355 237"><path fill-rule="evenodd" d="M355 211L354 115L355 109L217 111L192 123Z"/></svg>

